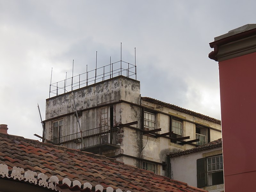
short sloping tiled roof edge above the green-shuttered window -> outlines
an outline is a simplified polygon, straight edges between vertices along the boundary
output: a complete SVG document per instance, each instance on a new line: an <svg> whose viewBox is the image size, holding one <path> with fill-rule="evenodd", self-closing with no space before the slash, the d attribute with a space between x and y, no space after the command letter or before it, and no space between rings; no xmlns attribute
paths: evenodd
<svg viewBox="0 0 256 192"><path fill-rule="evenodd" d="M181 155L187 155L187 154L190 154L190 153L196 153L196 152L199 152L199 151L204 151L204 150L208 150L208 149L212 149L212 148L219 148L219 147L222 147L221 138L217 139L217 140L214 140L212 142L209 142L205 145L201 145L199 147L195 147L195 148L184 150L184 151L179 151L179 152L176 152L176 153L170 153L168 156L169 157L177 157L177 156L181 156Z"/></svg>

